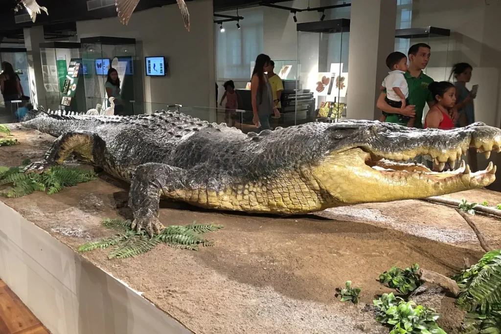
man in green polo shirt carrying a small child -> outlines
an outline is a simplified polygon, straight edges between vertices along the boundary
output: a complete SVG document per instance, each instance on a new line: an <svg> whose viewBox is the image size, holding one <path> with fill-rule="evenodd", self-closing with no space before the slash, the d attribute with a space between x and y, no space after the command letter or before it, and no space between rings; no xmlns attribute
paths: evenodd
<svg viewBox="0 0 501 334"><path fill-rule="evenodd" d="M430 53L430 46L424 43L415 44L409 49L408 57L410 65L404 74L407 86L409 87L409 106L404 109L393 108L384 101L386 90L379 95L377 107L390 114L386 117L386 122L406 126L407 121L399 120L398 114L410 117L415 116L416 121L414 122L414 126L420 129L423 128L424 105L428 103L428 106L431 107L435 101L428 90L428 85L433 82L433 79L423 73L426 65L428 65Z"/></svg>

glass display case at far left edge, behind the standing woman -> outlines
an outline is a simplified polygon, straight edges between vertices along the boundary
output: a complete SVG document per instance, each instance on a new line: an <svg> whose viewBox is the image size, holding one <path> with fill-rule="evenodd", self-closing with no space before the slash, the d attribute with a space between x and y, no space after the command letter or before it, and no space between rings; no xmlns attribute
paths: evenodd
<svg viewBox="0 0 501 334"><path fill-rule="evenodd" d="M28 55L24 48L0 48L0 63L9 62L14 68L21 81L24 95L31 97L30 75L28 71ZM2 70L0 69L0 72ZM17 105L8 104L6 106L3 96L0 94L0 123L10 123L16 119L14 112Z"/></svg>

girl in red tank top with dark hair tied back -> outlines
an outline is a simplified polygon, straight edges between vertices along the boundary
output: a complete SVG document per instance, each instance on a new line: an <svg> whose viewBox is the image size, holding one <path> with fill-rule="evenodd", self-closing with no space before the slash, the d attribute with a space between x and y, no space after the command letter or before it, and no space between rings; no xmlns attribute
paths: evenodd
<svg viewBox="0 0 501 334"><path fill-rule="evenodd" d="M430 108L424 119L425 128L452 130L454 122L449 116L449 110L456 103L456 88L447 81L434 82L428 86L433 94L435 104Z"/></svg>

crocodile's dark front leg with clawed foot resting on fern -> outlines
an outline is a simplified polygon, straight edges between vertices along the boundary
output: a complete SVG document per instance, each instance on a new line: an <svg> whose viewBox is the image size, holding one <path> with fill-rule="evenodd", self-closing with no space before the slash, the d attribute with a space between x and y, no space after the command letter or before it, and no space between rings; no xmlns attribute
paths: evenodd
<svg viewBox="0 0 501 334"><path fill-rule="evenodd" d="M129 207L134 213L132 228L145 229L153 236L165 228L158 220L160 195L185 187L187 173L184 169L159 163L137 166L132 175Z"/></svg>

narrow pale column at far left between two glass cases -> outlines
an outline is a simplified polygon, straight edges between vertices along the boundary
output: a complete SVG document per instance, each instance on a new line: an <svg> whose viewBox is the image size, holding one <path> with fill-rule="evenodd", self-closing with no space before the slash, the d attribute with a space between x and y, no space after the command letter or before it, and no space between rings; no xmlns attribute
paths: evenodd
<svg viewBox="0 0 501 334"><path fill-rule="evenodd" d="M25 28L25 47L28 54L28 72L30 80L31 103L34 107L46 103L44 76L42 73L42 57L40 55L40 43L45 41L44 27L38 26Z"/></svg>

